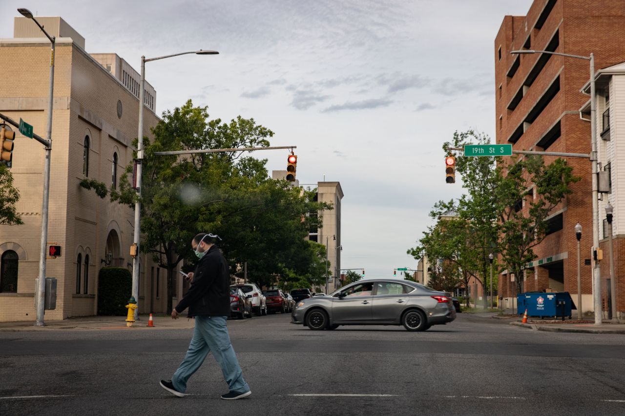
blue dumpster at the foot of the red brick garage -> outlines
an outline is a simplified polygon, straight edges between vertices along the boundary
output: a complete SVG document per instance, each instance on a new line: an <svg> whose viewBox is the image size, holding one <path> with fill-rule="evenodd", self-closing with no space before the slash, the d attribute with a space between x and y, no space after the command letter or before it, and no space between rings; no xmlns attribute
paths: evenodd
<svg viewBox="0 0 625 416"><path fill-rule="evenodd" d="M569 317L571 319L571 310L577 309L573 304L569 292L526 292L517 295L519 304L519 315L525 313L529 317Z"/></svg>

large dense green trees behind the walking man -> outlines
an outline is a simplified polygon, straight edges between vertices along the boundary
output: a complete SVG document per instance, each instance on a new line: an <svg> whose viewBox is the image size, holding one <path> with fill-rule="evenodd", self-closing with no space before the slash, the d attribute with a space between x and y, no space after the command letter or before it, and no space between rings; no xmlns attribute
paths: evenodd
<svg viewBox="0 0 625 416"><path fill-rule="evenodd" d="M144 138L141 231L143 252L149 252L168 270L168 311L174 268L183 260L196 261L191 239L198 232L222 237L219 247L231 274L261 287L281 282L316 283L323 279L325 248L304 240L308 230L321 227L308 212L332 209L313 202L316 191L293 188L286 181L269 179L266 159L247 152L214 152L156 156L159 151L267 147L273 132L254 119L241 116L224 123L208 119L207 107L191 101L166 111ZM126 167L111 199L133 206L133 166Z"/></svg>

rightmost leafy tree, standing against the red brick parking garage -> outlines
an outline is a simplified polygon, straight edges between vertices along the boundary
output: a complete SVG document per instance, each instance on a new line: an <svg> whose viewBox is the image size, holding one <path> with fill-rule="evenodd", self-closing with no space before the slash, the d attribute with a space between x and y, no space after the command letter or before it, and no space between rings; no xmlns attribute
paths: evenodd
<svg viewBox="0 0 625 416"><path fill-rule="evenodd" d="M532 249L549 230L547 218L580 178L572 174L565 160L558 158L545 165L540 156L512 159L505 169L501 167L501 176L496 190L499 252L503 265L516 275L516 289L521 293L525 265L536 259Z"/></svg>

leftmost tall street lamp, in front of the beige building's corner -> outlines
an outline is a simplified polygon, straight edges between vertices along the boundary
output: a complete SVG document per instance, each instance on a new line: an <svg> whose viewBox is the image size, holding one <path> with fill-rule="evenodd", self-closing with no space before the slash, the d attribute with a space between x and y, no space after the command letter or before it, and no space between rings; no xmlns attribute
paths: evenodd
<svg viewBox="0 0 625 416"><path fill-rule="evenodd" d="M54 44L56 37L50 36L46 29L37 22L32 16L32 12L29 9L20 8L17 11L27 19L31 19L39 29L50 39L51 51L50 51L50 84L47 96L47 132L46 139L48 146L46 150L46 160L44 161L43 169L43 201L41 203L41 245L39 247L39 280L35 288L35 303L37 305L37 319L35 320L36 327L44 327L43 315L45 313L46 302L46 245L47 245L47 210L48 201L50 196L50 156L52 150L52 104L54 101Z"/></svg>

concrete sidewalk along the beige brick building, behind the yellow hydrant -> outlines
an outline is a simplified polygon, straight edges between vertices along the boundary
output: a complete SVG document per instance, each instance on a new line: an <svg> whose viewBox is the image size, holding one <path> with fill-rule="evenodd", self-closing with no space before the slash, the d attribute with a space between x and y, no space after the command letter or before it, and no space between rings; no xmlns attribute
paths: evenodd
<svg viewBox="0 0 625 416"><path fill-rule="evenodd" d="M44 320L45 327L34 326L34 321L0 322L0 332L49 331L49 330L159 330L192 329L194 320L186 315L179 319L171 316L153 316L154 327L148 327L149 315L140 315L132 328L126 327L126 316L88 316L63 320Z"/></svg>

